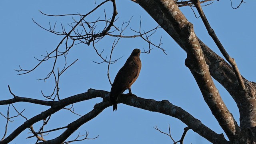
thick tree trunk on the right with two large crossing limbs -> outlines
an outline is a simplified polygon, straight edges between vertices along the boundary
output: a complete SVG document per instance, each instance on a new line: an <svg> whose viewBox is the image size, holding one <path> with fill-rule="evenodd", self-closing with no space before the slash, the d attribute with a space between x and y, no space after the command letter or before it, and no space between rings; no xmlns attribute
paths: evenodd
<svg viewBox="0 0 256 144"><path fill-rule="evenodd" d="M196 37L193 25L188 22L174 0L136 2L186 51L188 57L185 64L230 142L256 143L256 84L243 78L246 90L241 90L233 68ZM240 112L240 126L226 108L211 76L222 84L235 100Z"/></svg>

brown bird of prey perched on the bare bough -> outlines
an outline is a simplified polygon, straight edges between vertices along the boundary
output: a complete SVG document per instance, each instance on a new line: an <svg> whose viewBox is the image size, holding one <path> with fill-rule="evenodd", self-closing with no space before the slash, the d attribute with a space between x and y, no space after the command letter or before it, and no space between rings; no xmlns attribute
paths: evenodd
<svg viewBox="0 0 256 144"><path fill-rule="evenodd" d="M122 94L126 89L129 95L132 95L131 86L140 74L141 61L140 49L136 48L126 60L124 66L116 74L116 78L110 90L110 101L113 104L113 111L117 110L117 96Z"/></svg>

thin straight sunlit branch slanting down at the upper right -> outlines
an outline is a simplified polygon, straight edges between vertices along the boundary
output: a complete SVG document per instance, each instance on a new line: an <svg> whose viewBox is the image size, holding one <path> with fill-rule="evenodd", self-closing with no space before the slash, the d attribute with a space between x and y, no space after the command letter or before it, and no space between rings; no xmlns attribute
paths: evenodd
<svg viewBox="0 0 256 144"><path fill-rule="evenodd" d="M226 58L226 60L228 60L228 62L231 64L237 80L242 88L242 90L246 91L246 87L244 85L244 80L238 70L238 67L236 65L236 62L234 60L234 58L231 58L228 54L228 52L226 52L225 48L223 47L223 45L221 44L220 40L218 39L218 37L216 36L214 30L211 28L206 16L204 15L204 12L202 10L202 7L200 5L200 1L199 0L192 0L192 3L196 6L196 9L198 10L198 13L200 14L200 17L202 18L204 25L208 31L208 34L212 37L212 39L214 40L215 44L218 46L218 48L220 49L220 52L223 54L223 56Z"/></svg>

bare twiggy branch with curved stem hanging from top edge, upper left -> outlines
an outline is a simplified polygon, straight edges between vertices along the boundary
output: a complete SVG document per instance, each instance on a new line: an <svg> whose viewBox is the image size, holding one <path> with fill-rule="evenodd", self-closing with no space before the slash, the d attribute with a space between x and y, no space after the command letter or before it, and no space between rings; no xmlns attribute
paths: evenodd
<svg viewBox="0 0 256 144"><path fill-rule="evenodd" d="M86 37L82 37L82 39L84 39L84 40L87 41L87 42L86 42L87 44L90 44L90 42L91 42L92 40L95 40L96 38L99 38L99 37L104 36L104 35L106 34L106 32L108 32L108 30L110 30L111 26L113 25L114 18L115 18L116 14L117 14L117 12L116 12L116 4L115 4L115 1L114 1L114 0L105 0L104 2L102 2L101 4L99 4L98 6L96 6L93 10L91 10L90 12L88 12L88 13L85 14L85 15L80 15L80 14L77 15L77 14L75 14L75 16L80 16L80 20L79 20L79 21L75 21L76 24L75 24L74 26L70 25L70 26L71 26L71 30L70 30L68 33L66 32L65 27L64 27L62 24L61 24L61 26L62 26L62 32L56 32L56 31L54 31L54 28L55 28L55 25L56 25L56 24L54 24L54 28L53 28L53 29L52 29L51 26L50 26L50 30L48 30L48 29L46 29L46 28L43 28L42 26L40 26L38 23L36 23L36 22L33 20L33 22L35 22L35 24L37 24L38 26L40 26L40 27L43 28L44 30L47 30L48 32L52 32L52 33L57 34L57 35L64 35L64 38L62 38L62 40L59 42L59 44L58 44L58 46L55 48L55 50L53 50L53 51L50 52L50 53L46 52L47 55L46 55L46 56L43 56L44 58L43 58L42 60L37 59L37 60L39 60L40 62L39 62L34 68L32 68L31 70L24 70L24 69L22 69L22 68L19 66L20 69L19 69L19 70L16 70L16 71L18 71L18 72L23 72L22 74L27 74L27 73L29 73L29 72L35 70L35 69L36 69L40 64L42 64L44 61L46 61L46 60L48 60L48 59L50 59L50 58L54 58L54 64L53 64L53 66L52 66L51 72L48 73L48 75L46 76L46 78L43 78L43 79L40 79L40 80L46 80L47 78L49 78L52 74L54 74L54 68L55 68L55 66L56 66L56 61L57 61L58 56L62 56L62 55L67 54L67 52L72 48L72 46L75 45L75 41L76 41L76 40L80 40L80 36L76 36L77 33L76 33L75 29L76 29L78 26L83 25L83 24L88 24L88 25L89 25L89 23L87 23L87 22L84 20L84 19L86 18L86 16L88 16L89 14L91 14L92 12L94 12L97 8L99 8L100 6L102 6L103 4L105 4L105 3L108 2L108 1L111 1L111 2L113 3L113 7L114 7L114 13L113 13L112 19L111 19L111 21L110 21L110 24L105 28L105 30L103 30L101 33L98 33L98 34L93 34L94 27L92 27L92 28L91 28L91 31L90 31L91 34L90 34L90 33L87 33ZM42 13L42 12L41 12L41 13ZM42 13L42 14L44 14L44 13ZM47 15L47 14L44 14L44 15ZM66 15L47 15L47 16L71 16L71 15L66 14ZM72 15L72 16L74 16L74 15ZM74 19L73 19L73 20L74 20ZM96 21L96 22L97 22L97 21ZM94 24L95 24L96 22L94 22ZM75 36L72 36L72 32L74 32ZM65 40L66 40L66 42L65 42L66 47L65 47L65 50L64 50L63 52L61 52L59 49L60 49L61 44L62 44ZM71 44L70 44L70 46L68 46L68 40L71 40L71 41L72 41ZM19 74L19 75L20 75L20 74Z"/></svg>

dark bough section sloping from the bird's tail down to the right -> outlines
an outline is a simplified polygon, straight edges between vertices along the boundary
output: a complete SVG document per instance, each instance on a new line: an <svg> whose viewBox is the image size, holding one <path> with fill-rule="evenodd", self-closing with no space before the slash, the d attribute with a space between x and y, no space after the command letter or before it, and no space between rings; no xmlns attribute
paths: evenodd
<svg viewBox="0 0 256 144"><path fill-rule="evenodd" d="M162 100L161 102L139 98L135 95L133 96L119 96L119 102L127 104L129 106L134 106L137 108L142 108L144 110L149 110L151 112L160 112L181 120L184 124L189 126L194 132L200 134L202 137L206 138L214 144L226 144L227 140L224 138L223 134L216 134L210 128L202 124L200 120L194 118L191 114L183 110L178 106L174 106L168 100Z"/></svg>

